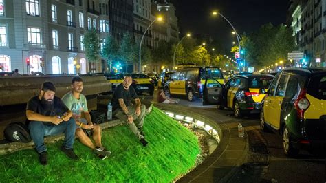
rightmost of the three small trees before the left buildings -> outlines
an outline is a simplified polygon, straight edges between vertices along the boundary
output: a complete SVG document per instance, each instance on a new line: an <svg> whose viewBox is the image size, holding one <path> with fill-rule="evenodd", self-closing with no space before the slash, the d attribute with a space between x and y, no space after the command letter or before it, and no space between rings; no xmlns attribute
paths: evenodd
<svg viewBox="0 0 326 183"><path fill-rule="evenodd" d="M120 59L126 62L126 72L128 72L128 62L135 61L135 56L137 55L135 53L135 41L133 41L129 32L123 34L118 53Z"/></svg>

